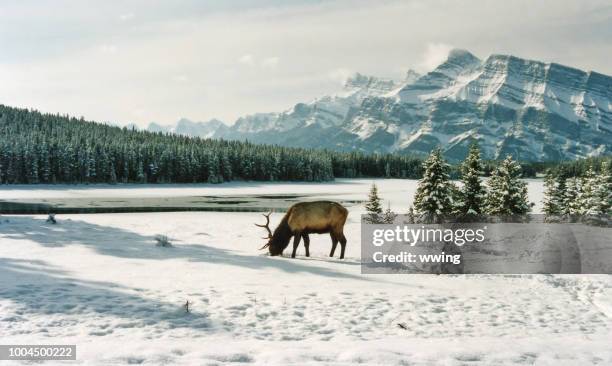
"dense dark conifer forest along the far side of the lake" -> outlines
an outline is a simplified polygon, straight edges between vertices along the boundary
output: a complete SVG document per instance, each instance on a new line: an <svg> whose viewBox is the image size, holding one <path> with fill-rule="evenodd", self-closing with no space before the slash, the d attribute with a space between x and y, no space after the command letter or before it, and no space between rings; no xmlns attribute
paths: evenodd
<svg viewBox="0 0 612 366"><path fill-rule="evenodd" d="M392 154L256 145L115 127L0 105L0 184L418 178Z"/></svg>

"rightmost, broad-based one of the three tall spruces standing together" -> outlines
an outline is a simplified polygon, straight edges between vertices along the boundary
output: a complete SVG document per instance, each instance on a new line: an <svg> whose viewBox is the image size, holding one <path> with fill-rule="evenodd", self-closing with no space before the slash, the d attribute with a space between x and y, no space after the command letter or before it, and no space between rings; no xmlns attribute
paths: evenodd
<svg viewBox="0 0 612 366"><path fill-rule="evenodd" d="M485 199L486 213L494 216L522 216L531 210L527 183L521 179L521 166L508 155L493 171Z"/></svg>

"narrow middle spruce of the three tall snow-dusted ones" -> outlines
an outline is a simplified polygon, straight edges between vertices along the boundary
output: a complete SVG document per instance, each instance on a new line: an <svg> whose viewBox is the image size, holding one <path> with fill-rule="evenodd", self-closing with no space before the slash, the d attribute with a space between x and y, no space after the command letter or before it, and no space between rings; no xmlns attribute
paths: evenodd
<svg viewBox="0 0 612 366"><path fill-rule="evenodd" d="M467 158L461 164L463 186L459 189L459 199L455 204L457 214L464 218L476 218L483 213L486 191L480 180L482 174L480 149L477 144L472 144Z"/></svg>

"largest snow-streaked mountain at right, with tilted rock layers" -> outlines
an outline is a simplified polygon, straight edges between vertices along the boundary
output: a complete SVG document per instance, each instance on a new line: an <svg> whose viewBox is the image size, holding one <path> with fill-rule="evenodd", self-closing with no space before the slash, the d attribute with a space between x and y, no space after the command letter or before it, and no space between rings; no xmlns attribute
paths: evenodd
<svg viewBox="0 0 612 366"><path fill-rule="evenodd" d="M477 140L489 158L558 160L612 152L611 101L609 76L455 50L398 93L365 100L347 126L364 149L426 153L440 145L460 159Z"/></svg>

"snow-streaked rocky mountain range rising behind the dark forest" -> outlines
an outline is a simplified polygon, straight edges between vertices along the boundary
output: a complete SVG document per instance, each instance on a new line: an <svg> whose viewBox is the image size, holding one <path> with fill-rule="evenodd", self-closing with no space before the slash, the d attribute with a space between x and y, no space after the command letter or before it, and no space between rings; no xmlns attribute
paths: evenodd
<svg viewBox="0 0 612 366"><path fill-rule="evenodd" d="M284 112L150 131L341 151L427 154L451 161L477 141L487 159L551 161L612 152L612 77L509 55L453 50L434 70L402 80L355 74L342 92Z"/></svg>

